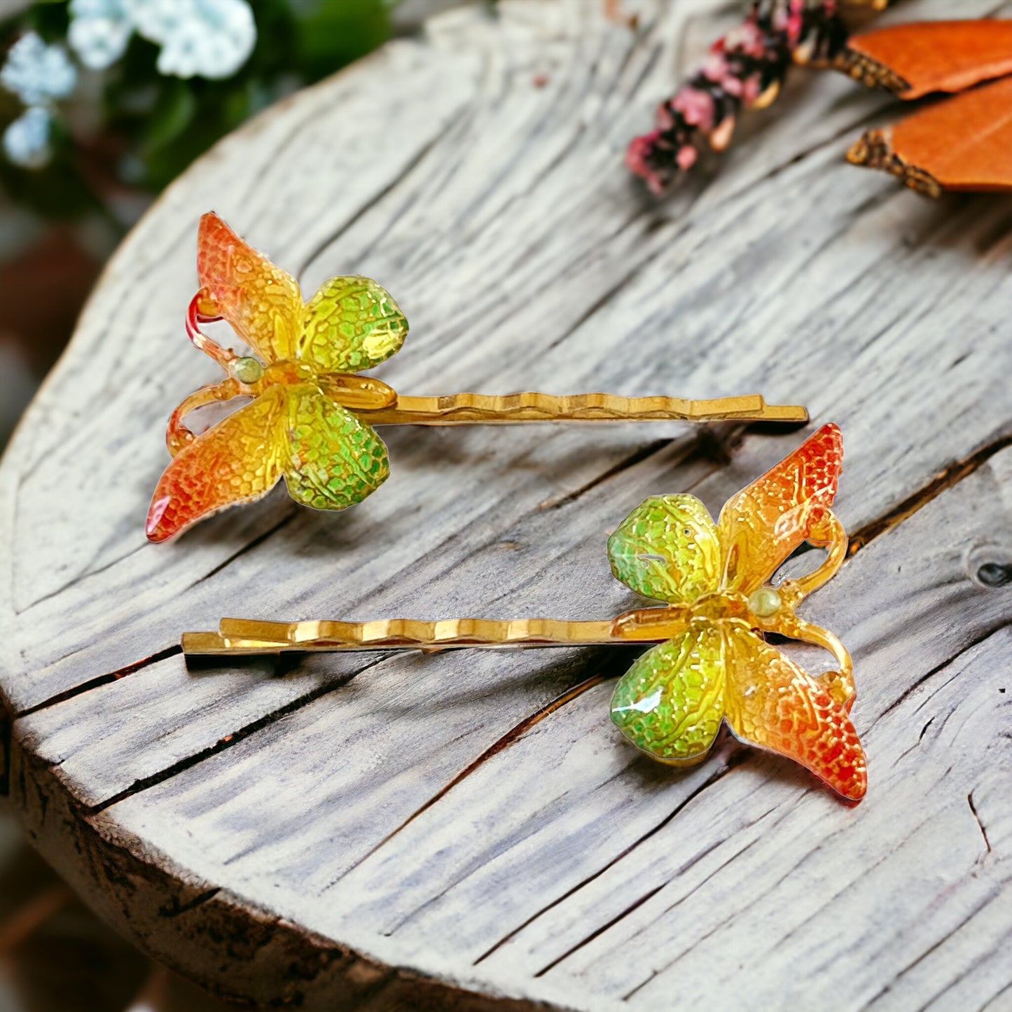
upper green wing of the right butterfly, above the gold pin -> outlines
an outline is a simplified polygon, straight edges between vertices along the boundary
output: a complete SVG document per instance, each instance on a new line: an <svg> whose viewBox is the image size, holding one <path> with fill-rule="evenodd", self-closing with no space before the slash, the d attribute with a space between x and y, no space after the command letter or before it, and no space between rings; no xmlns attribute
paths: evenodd
<svg viewBox="0 0 1012 1012"><path fill-rule="evenodd" d="M638 594L690 604L716 590L716 526L695 496L652 496L608 538L608 561L615 577Z"/></svg>

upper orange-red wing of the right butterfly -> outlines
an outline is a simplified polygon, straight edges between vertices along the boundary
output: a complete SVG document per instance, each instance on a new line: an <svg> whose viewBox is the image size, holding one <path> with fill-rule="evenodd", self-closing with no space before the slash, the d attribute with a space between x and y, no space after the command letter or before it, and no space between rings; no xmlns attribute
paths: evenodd
<svg viewBox="0 0 1012 1012"><path fill-rule="evenodd" d="M843 437L830 422L725 503L723 589L750 594L773 575L833 505L842 467Z"/></svg>

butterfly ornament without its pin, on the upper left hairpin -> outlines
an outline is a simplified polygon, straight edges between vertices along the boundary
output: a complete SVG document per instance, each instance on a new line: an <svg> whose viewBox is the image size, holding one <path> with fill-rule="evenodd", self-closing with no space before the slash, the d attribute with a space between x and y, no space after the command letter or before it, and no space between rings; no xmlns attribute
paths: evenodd
<svg viewBox="0 0 1012 1012"><path fill-rule="evenodd" d="M200 219L190 307L193 343L229 373L187 398L169 422L173 454L155 489L147 533L162 541L284 478L298 502L342 509L387 478L387 448L348 405L383 406L394 392L354 376L393 355L408 322L375 281L334 277L304 303L294 278L241 240L217 215ZM224 318L257 357L226 351L198 324ZM252 403L195 436L193 408L233 397ZM341 401L344 401L344 404Z"/></svg>

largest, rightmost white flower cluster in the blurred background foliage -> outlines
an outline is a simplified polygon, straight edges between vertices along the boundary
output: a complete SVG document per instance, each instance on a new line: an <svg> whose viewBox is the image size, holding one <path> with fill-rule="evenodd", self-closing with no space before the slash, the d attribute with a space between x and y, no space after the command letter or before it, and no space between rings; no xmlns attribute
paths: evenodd
<svg viewBox="0 0 1012 1012"><path fill-rule="evenodd" d="M124 0L137 30L162 47L158 70L230 77L249 58L256 23L246 0Z"/></svg>

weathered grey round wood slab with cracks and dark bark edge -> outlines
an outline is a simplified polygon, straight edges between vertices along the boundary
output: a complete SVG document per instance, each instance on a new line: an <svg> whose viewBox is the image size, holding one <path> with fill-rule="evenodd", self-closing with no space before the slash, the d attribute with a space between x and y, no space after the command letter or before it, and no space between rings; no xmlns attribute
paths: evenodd
<svg viewBox="0 0 1012 1012"><path fill-rule="evenodd" d="M0 470L14 807L221 993L1012 1007L1012 586L978 578L1012 563L1012 202L843 164L889 102L821 76L656 204L622 146L730 12L642 6L638 34L585 0L451 12L227 139L123 244ZM622 651L187 671L179 632L223 614L612 615L632 506L715 511L798 440L388 429L393 477L353 511L279 493L151 546L165 418L214 373L181 326L212 207L307 290L381 279L406 393L761 391L839 422L862 546L806 615L853 652L867 798L729 740L685 773L634 755L597 681Z"/></svg>

